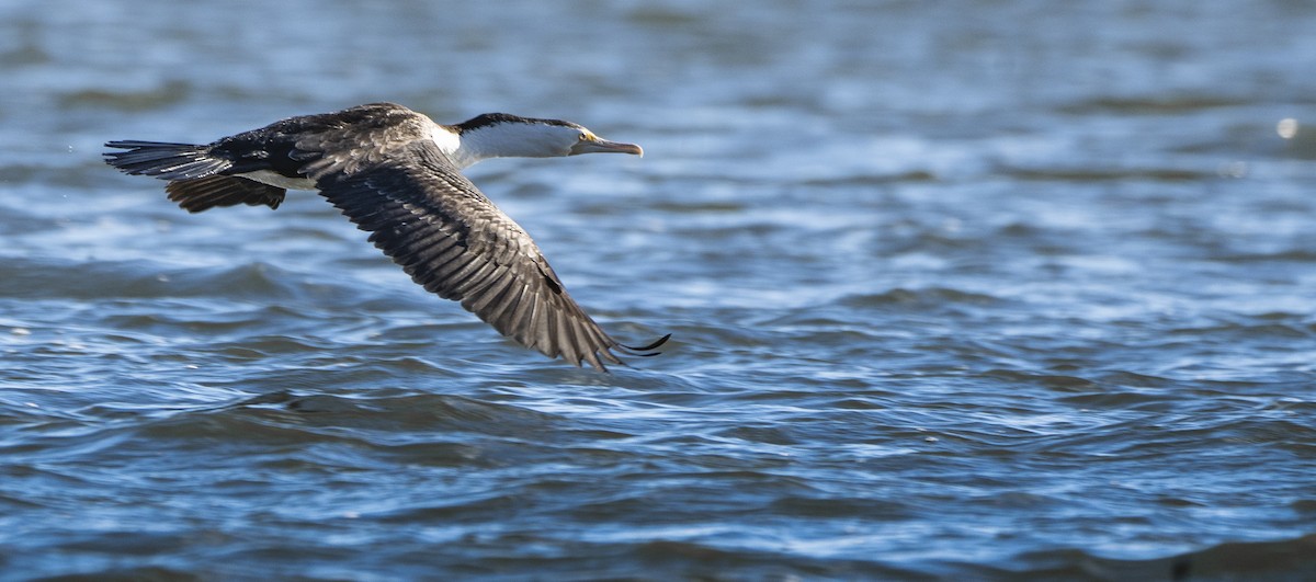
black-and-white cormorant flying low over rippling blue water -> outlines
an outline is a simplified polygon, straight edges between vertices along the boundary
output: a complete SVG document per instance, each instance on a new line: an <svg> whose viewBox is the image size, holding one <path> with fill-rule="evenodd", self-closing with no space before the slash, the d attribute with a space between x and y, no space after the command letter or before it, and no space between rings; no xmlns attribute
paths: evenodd
<svg viewBox="0 0 1316 582"><path fill-rule="evenodd" d="M613 354L657 356L613 340L567 295L540 248L462 170L488 158L590 153L644 155L559 120L484 113L457 125L392 103L290 117L207 145L112 141L105 162L168 180L188 212L278 208L287 190L316 190L401 265L412 280L517 344L607 371Z"/></svg>

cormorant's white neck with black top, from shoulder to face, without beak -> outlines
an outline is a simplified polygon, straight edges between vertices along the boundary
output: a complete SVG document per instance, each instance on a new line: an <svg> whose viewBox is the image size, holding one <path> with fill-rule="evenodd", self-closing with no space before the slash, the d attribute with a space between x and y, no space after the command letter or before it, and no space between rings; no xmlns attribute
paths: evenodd
<svg viewBox="0 0 1316 582"><path fill-rule="evenodd" d="M540 124L495 124L463 132L451 125L436 125L432 136L438 149L461 169L488 158L566 155L554 149L551 129Z"/></svg>

